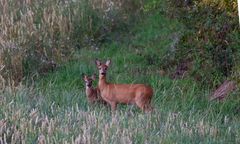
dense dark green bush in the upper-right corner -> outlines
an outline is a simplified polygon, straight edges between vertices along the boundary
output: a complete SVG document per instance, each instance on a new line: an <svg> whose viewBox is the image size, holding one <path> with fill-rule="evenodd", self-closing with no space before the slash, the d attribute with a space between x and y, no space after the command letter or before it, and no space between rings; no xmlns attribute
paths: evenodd
<svg viewBox="0 0 240 144"><path fill-rule="evenodd" d="M204 84L231 76L239 64L237 2L233 0L169 1L168 14L186 26L177 47L178 64L191 61L190 75Z"/></svg>

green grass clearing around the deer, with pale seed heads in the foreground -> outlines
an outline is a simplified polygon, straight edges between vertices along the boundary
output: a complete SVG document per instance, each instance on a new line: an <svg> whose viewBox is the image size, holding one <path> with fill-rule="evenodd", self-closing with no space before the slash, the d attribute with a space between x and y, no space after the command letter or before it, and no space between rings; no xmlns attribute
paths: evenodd
<svg viewBox="0 0 240 144"><path fill-rule="evenodd" d="M160 76L172 35L181 30L174 20L149 15L129 33L119 34L120 41L105 43L99 51L81 49L71 62L38 80L34 89L5 91L0 119L6 127L0 129L0 138L27 143L239 143L237 94L209 103L209 90L190 78ZM112 60L111 82L151 85L155 112L143 114L134 106L119 105L111 115L109 108L89 106L81 74L97 73L96 58Z"/></svg>

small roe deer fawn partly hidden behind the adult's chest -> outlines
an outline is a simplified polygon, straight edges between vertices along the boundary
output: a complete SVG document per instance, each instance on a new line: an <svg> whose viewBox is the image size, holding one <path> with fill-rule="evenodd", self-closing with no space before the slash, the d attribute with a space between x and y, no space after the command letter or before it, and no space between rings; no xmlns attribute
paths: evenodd
<svg viewBox="0 0 240 144"><path fill-rule="evenodd" d="M96 79L95 75L92 75L91 77L84 75L83 80L85 81L86 86L86 95L88 98L88 102L91 104L95 103L102 103L105 104L105 102L100 97L100 92L98 88L93 87L93 81Z"/></svg>

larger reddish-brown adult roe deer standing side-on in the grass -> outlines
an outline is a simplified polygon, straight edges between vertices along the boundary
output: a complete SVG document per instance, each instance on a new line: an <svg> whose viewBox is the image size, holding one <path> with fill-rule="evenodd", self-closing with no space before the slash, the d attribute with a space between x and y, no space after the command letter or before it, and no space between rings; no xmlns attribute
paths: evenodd
<svg viewBox="0 0 240 144"><path fill-rule="evenodd" d="M107 60L102 64L96 60L99 70L98 88L103 100L111 105L112 110L116 110L118 103L136 104L143 111L151 110L151 98L153 89L144 84L113 84L106 81L107 69L111 63Z"/></svg>

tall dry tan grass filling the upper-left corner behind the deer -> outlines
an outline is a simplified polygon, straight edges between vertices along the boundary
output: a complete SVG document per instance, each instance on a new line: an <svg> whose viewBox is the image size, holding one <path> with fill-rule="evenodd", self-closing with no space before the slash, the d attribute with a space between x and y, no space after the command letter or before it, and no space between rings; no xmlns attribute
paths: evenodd
<svg viewBox="0 0 240 144"><path fill-rule="evenodd" d="M1 0L2 77L17 85L26 74L45 73L76 48L103 39L124 12L123 2Z"/></svg>

